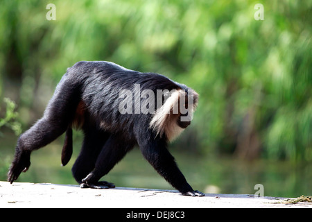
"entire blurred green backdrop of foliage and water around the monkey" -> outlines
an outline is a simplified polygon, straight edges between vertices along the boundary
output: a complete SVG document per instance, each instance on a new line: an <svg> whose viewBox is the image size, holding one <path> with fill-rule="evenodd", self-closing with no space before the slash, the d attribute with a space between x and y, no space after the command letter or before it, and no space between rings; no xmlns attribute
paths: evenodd
<svg viewBox="0 0 312 222"><path fill-rule="evenodd" d="M55 5L55 20L49 3ZM257 3L264 20L254 19ZM164 74L200 94L170 146L194 189L265 196L312 194L312 1L2 0L0 180L18 135L42 113L80 60ZM49 17L49 16L48 16ZM76 184L64 136L33 152L20 182ZM172 189L138 149L105 176L119 187Z"/></svg>

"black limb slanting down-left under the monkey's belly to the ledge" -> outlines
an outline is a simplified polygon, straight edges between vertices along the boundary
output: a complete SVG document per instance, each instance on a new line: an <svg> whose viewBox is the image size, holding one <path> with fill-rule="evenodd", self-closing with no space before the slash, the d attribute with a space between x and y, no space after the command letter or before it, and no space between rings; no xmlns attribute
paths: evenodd
<svg viewBox="0 0 312 222"><path fill-rule="evenodd" d="M94 169L82 180L83 184L80 187L114 188L114 184L98 180L105 176L133 146L135 146L135 142L125 141L121 135L110 135L98 155Z"/></svg>

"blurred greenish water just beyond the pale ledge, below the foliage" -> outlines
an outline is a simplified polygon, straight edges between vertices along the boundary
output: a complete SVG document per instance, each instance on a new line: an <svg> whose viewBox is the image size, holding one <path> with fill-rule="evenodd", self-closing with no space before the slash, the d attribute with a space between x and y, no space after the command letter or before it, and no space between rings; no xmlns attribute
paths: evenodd
<svg viewBox="0 0 312 222"><path fill-rule="evenodd" d="M0 180L6 180L8 166L14 155L16 137L2 137L0 142ZM79 152L80 141L74 145L69 164L60 167L62 139L34 151L31 167L22 173L19 182L50 182L76 184L71 166ZM232 157L198 156L171 150L178 166L193 189L206 193L254 194L255 185L263 185L265 196L297 197L312 194L312 164L292 164L257 160L244 162ZM173 189L144 160L138 148L103 178L118 187Z"/></svg>

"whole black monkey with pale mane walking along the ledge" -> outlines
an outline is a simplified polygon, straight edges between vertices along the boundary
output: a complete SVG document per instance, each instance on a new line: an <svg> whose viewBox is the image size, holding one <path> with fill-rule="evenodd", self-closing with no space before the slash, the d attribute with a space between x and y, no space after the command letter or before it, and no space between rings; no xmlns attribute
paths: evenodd
<svg viewBox="0 0 312 222"><path fill-rule="evenodd" d="M159 90L164 93L153 98ZM114 188L111 182L99 180L139 146L157 173L182 195L205 196L193 190L167 149L189 126L197 105L193 89L161 74L126 69L114 62L76 62L62 76L43 117L17 139L8 181L12 184L28 170L32 151L63 133L61 161L66 165L73 151L74 128L84 135L71 169L81 188Z"/></svg>

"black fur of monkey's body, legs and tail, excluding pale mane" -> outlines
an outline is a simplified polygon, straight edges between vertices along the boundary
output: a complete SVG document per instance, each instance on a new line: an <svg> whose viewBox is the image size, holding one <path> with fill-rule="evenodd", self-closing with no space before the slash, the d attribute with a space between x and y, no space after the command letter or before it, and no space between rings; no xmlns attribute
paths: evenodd
<svg viewBox="0 0 312 222"><path fill-rule="evenodd" d="M132 71L112 62L77 62L60 80L42 119L19 137L8 181L12 183L21 171L28 169L33 150L46 146L65 131L62 164L67 164L72 153L71 127L76 127L82 128L85 135L72 169L81 187L114 187L98 180L138 144L146 160L173 187L184 195L203 196L191 188L177 168L166 148L166 135L157 135L150 128L152 114L119 112L118 106L123 100L119 98L119 92L121 89L134 92L135 84L141 85L141 90L151 89L155 94L157 89L189 90L165 76ZM133 103L133 108L135 105L139 104ZM182 128L189 123L177 120Z"/></svg>

